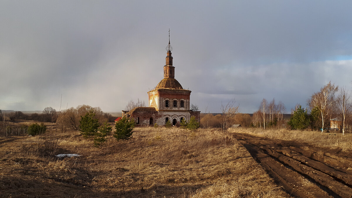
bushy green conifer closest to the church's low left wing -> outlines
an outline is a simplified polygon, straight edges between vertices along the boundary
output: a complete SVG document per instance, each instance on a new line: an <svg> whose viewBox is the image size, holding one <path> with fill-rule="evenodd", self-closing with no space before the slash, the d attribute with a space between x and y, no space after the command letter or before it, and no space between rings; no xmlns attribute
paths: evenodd
<svg viewBox="0 0 352 198"><path fill-rule="evenodd" d="M117 140L128 140L132 136L132 130L134 128L134 120L128 120L127 117L122 117L115 124L115 134L114 137Z"/></svg>

